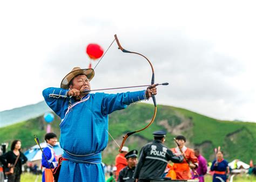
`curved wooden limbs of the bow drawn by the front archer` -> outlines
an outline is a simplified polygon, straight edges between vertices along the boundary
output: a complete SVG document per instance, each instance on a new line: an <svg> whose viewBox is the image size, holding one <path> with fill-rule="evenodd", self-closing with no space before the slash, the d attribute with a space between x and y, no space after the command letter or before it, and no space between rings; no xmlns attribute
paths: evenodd
<svg viewBox="0 0 256 182"><path fill-rule="evenodd" d="M149 62L150 67L151 67L151 69L152 69L151 85L153 85L153 84L154 84L154 68L153 68L153 65L152 65L152 63L150 62L150 60L147 59L144 55L142 55L142 54L140 54L140 53L131 52L131 51L125 50L125 49L121 46L121 44L119 43L119 40L118 40L116 34L114 35L114 39L116 39L118 48L119 48L121 51L123 51L124 53L133 53L133 54L141 55L142 57L144 57L144 58L147 60L147 62ZM154 119L156 118L156 115L157 115L157 102L156 102L156 97L155 97L154 95L152 95L152 100L153 100L153 103L154 103L154 115L153 115L153 117L152 117L152 119L151 119L151 122L150 122L149 124L147 124L146 127L142 128L142 129L140 129L140 130L136 130L136 131L132 131L132 132L127 132L127 134L125 134L125 136L123 136L123 141L122 141L122 144L121 144L120 147L119 147L119 152L122 151L122 148L123 148L123 146L124 146L124 143L125 143L126 139L127 139L129 136L131 136L132 134L135 134L136 132L140 132L140 131L142 131L142 130L145 130L146 128L148 128L148 127L154 122Z"/></svg>

